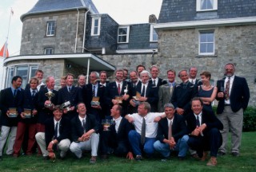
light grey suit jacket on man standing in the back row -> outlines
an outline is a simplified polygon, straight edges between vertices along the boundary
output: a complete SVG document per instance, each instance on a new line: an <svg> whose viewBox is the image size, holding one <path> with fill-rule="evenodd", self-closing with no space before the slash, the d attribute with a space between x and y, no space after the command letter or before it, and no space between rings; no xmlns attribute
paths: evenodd
<svg viewBox="0 0 256 172"><path fill-rule="evenodd" d="M174 92L170 93L170 86L169 84L163 84L158 88L158 111L162 112L164 111L165 104L168 104L170 102L171 96Z"/></svg>

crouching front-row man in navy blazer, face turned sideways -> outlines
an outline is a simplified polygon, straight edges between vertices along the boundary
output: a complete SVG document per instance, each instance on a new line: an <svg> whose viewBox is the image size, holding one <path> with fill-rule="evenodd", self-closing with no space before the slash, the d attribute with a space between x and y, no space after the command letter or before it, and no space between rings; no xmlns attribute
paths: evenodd
<svg viewBox="0 0 256 172"><path fill-rule="evenodd" d="M122 106L115 104L111 108L111 117L113 123L108 130L102 131L101 134L101 153L102 158L107 158L108 148L114 149L114 154L117 156L126 156L126 158L133 159L132 148L130 147L128 134L133 128L127 119L121 116Z"/></svg>

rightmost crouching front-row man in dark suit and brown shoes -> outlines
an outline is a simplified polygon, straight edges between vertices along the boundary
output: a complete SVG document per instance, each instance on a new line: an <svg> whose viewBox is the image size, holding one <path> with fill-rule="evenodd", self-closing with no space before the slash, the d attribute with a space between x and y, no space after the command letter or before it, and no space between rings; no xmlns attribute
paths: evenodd
<svg viewBox="0 0 256 172"><path fill-rule="evenodd" d="M220 120L213 111L202 110L202 100L194 97L191 100L191 109L186 116L186 124L190 139L187 141L189 147L197 151L202 161L206 160L206 151L210 150L210 161L207 166L217 165L218 148L222 145L222 135L219 130L223 129Z"/></svg>

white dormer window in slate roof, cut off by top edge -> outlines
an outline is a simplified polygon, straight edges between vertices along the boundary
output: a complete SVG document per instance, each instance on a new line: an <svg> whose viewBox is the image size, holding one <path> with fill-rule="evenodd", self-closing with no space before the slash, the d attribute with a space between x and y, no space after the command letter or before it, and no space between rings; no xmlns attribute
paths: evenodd
<svg viewBox="0 0 256 172"><path fill-rule="evenodd" d="M197 0L197 11L217 10L218 0Z"/></svg>

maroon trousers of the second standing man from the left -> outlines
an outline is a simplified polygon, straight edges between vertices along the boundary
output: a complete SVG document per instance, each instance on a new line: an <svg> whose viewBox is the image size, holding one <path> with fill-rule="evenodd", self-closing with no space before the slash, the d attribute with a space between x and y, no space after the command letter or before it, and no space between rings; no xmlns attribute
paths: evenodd
<svg viewBox="0 0 256 172"><path fill-rule="evenodd" d="M19 154L22 147L22 142L26 132L26 127L28 127L28 141L26 154L32 154L32 148L35 143L35 134L36 134L36 124L35 123L18 123L17 134L14 143L14 154Z"/></svg>

